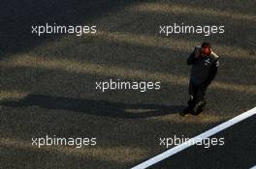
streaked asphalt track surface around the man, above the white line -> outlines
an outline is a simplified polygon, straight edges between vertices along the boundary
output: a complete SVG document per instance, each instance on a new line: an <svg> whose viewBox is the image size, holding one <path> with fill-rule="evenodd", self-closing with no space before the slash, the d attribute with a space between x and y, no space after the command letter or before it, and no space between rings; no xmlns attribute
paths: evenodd
<svg viewBox="0 0 256 169"><path fill-rule="evenodd" d="M160 137L192 137L256 105L254 1L3 1L0 15L4 25L0 29L0 168L130 168L166 150L159 146ZM98 33L31 34L31 25L46 22L97 25ZM174 22L225 25L225 33L159 35L159 25ZM203 41L211 42L221 66L207 92L207 110L200 117L182 118L178 113L188 99L190 70L185 61ZM102 93L95 89L96 81L110 79L160 81L161 90ZM255 123L248 124L253 133ZM242 138L249 137L242 129L246 124L241 126ZM251 142L247 147L242 141L233 143L238 136L233 131L224 131L227 148L223 150L255 148ZM82 149L31 145L32 137L46 135L96 137L97 145ZM216 166L221 168L227 161L224 166L229 168L234 159L214 150L207 154L221 154ZM244 161L247 154L241 154ZM255 162L251 154L247 163L236 166ZM192 159L189 164L197 166ZM217 160L200 159L210 166Z"/></svg>

